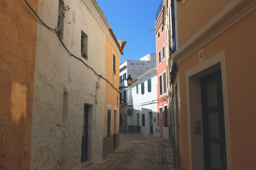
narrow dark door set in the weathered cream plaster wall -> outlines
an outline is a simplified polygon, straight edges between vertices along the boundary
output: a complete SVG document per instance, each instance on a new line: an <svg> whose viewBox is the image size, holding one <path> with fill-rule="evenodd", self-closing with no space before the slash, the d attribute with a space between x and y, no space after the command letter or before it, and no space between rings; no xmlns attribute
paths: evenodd
<svg viewBox="0 0 256 170"><path fill-rule="evenodd" d="M84 161L87 161L87 150L88 150L87 144L88 144L88 106L84 105L81 163Z"/></svg>

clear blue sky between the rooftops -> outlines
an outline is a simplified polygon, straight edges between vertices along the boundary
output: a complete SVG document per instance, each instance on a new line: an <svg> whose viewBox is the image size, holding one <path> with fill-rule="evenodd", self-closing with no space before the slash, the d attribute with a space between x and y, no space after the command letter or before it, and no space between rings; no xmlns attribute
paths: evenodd
<svg viewBox="0 0 256 170"><path fill-rule="evenodd" d="M120 63L156 53L156 11L162 0L97 0L116 37L127 41Z"/></svg>

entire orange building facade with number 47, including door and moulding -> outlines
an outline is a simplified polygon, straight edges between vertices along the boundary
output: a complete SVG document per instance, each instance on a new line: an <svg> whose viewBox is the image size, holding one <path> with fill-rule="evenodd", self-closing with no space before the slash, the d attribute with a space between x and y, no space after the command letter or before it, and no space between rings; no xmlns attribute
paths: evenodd
<svg viewBox="0 0 256 170"><path fill-rule="evenodd" d="M254 169L256 1L169 3L176 169Z"/></svg>

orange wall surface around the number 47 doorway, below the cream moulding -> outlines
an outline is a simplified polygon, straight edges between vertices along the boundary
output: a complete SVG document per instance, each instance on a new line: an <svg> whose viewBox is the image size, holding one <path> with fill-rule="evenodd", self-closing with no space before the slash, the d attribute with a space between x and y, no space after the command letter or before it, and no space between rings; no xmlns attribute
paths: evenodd
<svg viewBox="0 0 256 170"><path fill-rule="evenodd" d="M233 170L253 169L256 156L255 20L256 11L253 11L203 47L205 60L225 50ZM186 71L198 64L198 51L179 64L181 107L187 106ZM188 142L182 143L183 166L189 169Z"/></svg>

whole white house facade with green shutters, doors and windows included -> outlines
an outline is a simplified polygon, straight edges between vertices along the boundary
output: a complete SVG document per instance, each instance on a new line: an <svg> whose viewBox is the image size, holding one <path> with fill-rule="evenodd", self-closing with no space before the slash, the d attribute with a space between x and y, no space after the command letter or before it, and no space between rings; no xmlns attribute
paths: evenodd
<svg viewBox="0 0 256 170"><path fill-rule="evenodd" d="M137 77L127 92L128 131L159 137L156 68Z"/></svg>

